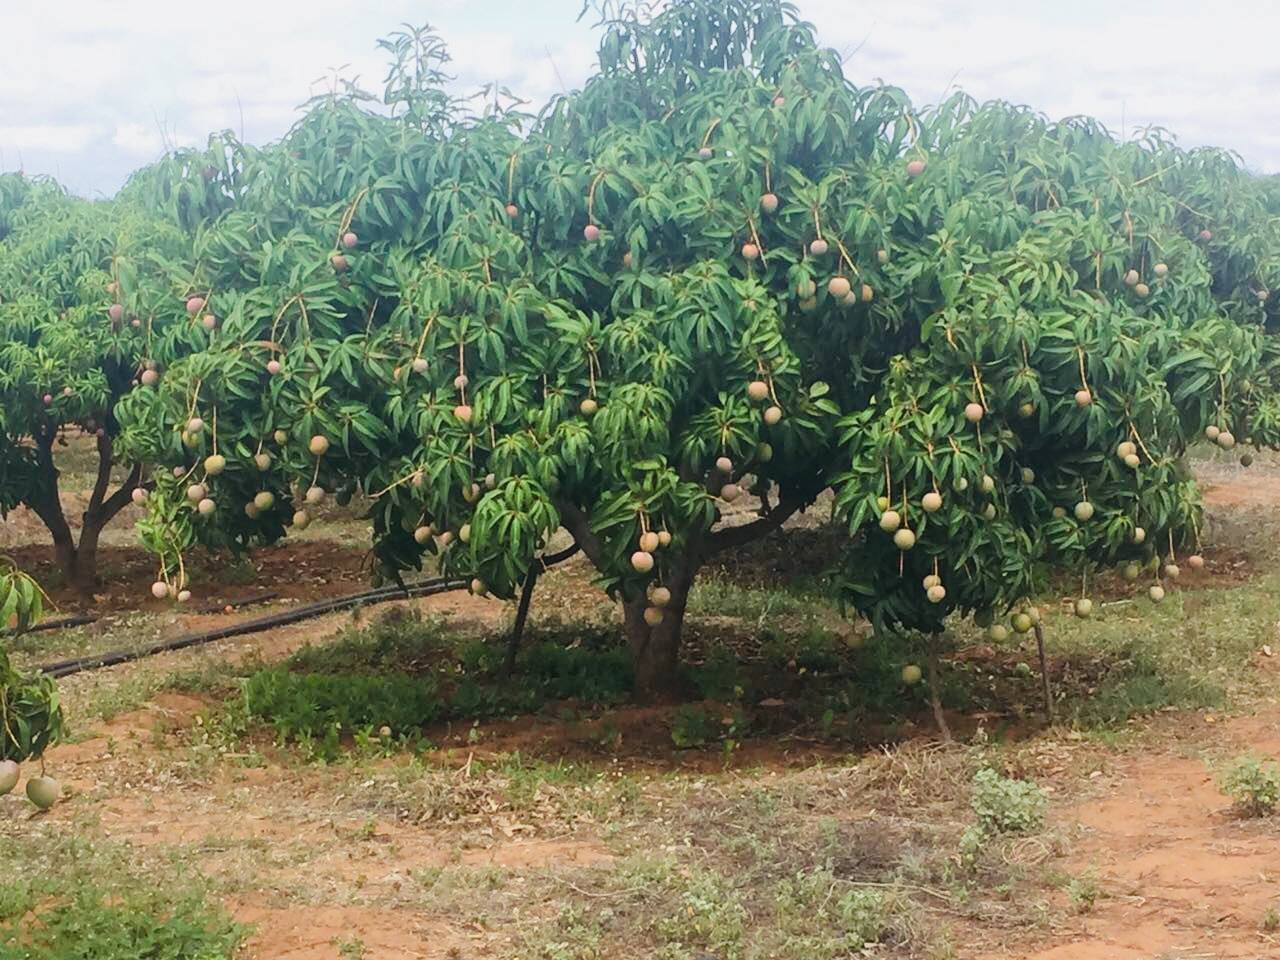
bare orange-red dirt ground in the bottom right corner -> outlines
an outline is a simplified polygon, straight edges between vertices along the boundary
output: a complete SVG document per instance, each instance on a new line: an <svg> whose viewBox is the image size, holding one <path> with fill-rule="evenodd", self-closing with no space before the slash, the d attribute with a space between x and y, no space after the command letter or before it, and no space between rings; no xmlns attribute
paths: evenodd
<svg viewBox="0 0 1280 960"><path fill-rule="evenodd" d="M1057 814L1080 826L1064 869L1096 878L1096 906L1053 946L983 960L1280 957L1280 932L1266 929L1280 910L1280 829L1236 817L1206 762L1280 756L1280 712L1179 726L1167 745L1116 764L1102 797Z"/></svg>

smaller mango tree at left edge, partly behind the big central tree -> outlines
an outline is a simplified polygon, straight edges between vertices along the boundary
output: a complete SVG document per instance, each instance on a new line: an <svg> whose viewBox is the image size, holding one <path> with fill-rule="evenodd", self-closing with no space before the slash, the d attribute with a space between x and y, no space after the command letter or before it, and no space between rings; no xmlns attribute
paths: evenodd
<svg viewBox="0 0 1280 960"><path fill-rule="evenodd" d="M157 376L160 352L198 348L207 332L188 328L214 320L169 324L156 310L180 293L168 289L163 259L188 248L180 229L128 204L0 177L0 511L29 507L50 531L64 579L84 593L102 529L142 495L137 461L123 465L113 489L115 404ZM73 525L58 451L76 433L91 438L96 470Z"/></svg>

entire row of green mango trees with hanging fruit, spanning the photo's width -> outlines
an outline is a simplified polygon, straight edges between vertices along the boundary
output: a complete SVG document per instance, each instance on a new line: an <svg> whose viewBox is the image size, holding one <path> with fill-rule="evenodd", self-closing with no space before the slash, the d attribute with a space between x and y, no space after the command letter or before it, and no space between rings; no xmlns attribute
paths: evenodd
<svg viewBox="0 0 1280 960"><path fill-rule="evenodd" d="M1280 444L1280 186L1229 154L919 110L777 0L607 6L535 115L451 99L425 29L383 46L380 102L335 88L110 202L0 178L0 499L69 576L143 492L157 595L193 544L357 490L387 573L436 554L500 596L563 527L657 692L699 568L828 488L850 607L932 634L1050 563L1152 563L1157 596L1198 549L1188 444ZM104 465L78 547L73 425Z"/></svg>

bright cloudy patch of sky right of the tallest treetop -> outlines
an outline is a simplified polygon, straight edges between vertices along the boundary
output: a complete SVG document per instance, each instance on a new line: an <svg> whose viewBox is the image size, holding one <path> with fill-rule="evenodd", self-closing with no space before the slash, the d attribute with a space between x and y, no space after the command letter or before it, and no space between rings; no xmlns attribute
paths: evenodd
<svg viewBox="0 0 1280 960"><path fill-rule="evenodd" d="M979 100L1088 114L1117 134L1162 125L1184 146L1234 148L1280 170L1274 124L1260 113L1277 86L1280 6L1268 0L865 0L855 18L846 0L800 6L824 44L861 45L845 65L858 82L882 77L934 102L954 79Z"/></svg>

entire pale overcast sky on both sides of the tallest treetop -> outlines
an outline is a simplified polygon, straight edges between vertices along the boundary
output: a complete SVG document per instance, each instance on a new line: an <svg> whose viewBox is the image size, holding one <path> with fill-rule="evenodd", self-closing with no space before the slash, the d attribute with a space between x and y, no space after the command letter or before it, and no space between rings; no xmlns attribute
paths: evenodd
<svg viewBox="0 0 1280 960"><path fill-rule="evenodd" d="M581 83L595 35L580 0L42 0L5 3L0 170L114 192L166 142L232 128L273 140L332 68L380 91L380 36L430 22L460 90L499 81L540 104ZM1280 172L1275 0L797 0L855 82L916 102L948 84Z"/></svg>

